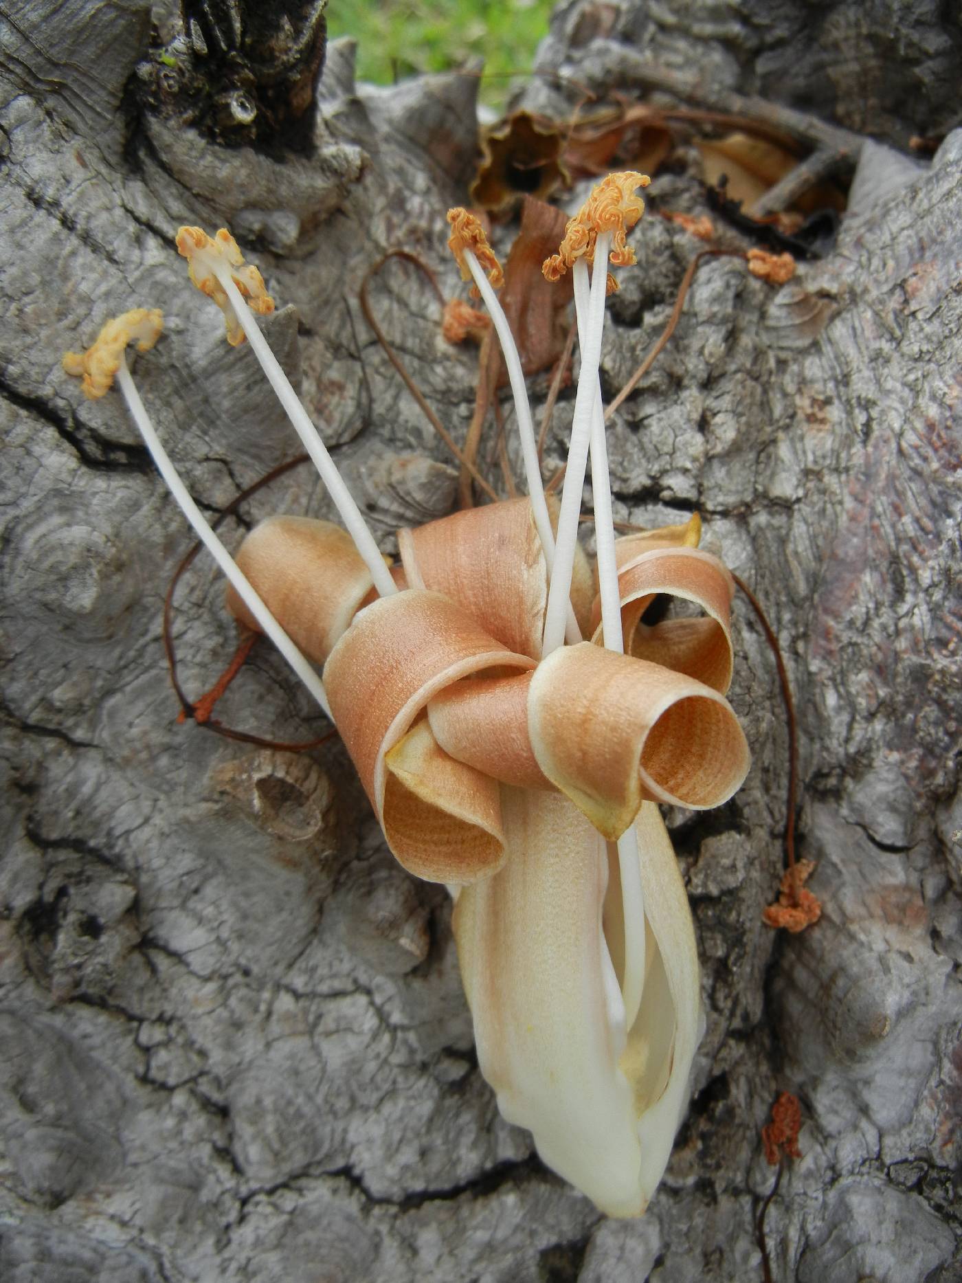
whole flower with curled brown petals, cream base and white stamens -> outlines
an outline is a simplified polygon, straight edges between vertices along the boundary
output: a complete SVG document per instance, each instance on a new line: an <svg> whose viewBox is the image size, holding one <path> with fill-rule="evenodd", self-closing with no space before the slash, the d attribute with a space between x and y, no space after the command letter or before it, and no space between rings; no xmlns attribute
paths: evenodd
<svg viewBox="0 0 962 1283"><path fill-rule="evenodd" d="M271 357L235 259L195 255L191 276L233 309L346 529L274 517L235 563L156 441L122 352L117 371L228 575L228 608L277 640L330 712L401 865L449 885L480 1065L503 1115L617 1216L640 1215L662 1177L702 1024L691 915L655 803L716 806L749 763L725 699L732 581L696 547L700 522L613 536L598 359L608 257L631 260L641 181L607 180L566 235L582 363L561 506L541 488L519 361L485 277L496 259L472 216L449 214L504 345L530 493L399 531L398 565ZM182 239L200 255L214 244ZM577 541L589 444L596 581ZM704 613L649 626L659 594Z"/></svg>

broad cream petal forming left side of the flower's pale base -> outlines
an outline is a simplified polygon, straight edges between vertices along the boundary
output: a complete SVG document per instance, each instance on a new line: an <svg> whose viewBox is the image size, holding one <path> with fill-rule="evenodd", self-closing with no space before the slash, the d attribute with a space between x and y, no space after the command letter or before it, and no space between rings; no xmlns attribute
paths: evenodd
<svg viewBox="0 0 962 1283"><path fill-rule="evenodd" d="M602 933L604 842L553 793L503 788L502 816L504 867L454 908L481 1071L549 1168L611 1215L639 1216L623 1007Z"/></svg>

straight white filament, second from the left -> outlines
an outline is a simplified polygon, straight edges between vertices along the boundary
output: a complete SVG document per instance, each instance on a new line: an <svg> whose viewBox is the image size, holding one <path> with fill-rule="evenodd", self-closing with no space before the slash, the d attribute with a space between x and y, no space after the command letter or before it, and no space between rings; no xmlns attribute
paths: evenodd
<svg viewBox="0 0 962 1283"><path fill-rule="evenodd" d="M331 495L333 506L337 508L348 534L351 536L358 552L364 558L367 568L371 571L371 577L375 581L375 588L381 597L389 597L391 593L396 593L398 586L391 579L391 572L387 570L384 557L375 543L375 536L371 534L371 530L368 529L360 509L354 502L350 490L344 484L333 459L327 452L327 446L321 440L317 429L301 405L300 398L291 387L290 381L283 370L281 370L273 352L271 352L267 339L264 339L250 308L244 300L244 295L233 284L230 269L226 264L214 259L213 255L210 255L209 266L218 282L223 286L233 310L237 313L237 319L244 327L244 334L254 350L254 355L260 362L260 366L267 375L277 399L283 407L287 418L291 421L295 432L304 443L304 449L310 455L314 467L321 473L321 480L327 486L327 493Z"/></svg>

